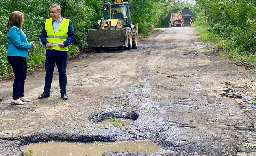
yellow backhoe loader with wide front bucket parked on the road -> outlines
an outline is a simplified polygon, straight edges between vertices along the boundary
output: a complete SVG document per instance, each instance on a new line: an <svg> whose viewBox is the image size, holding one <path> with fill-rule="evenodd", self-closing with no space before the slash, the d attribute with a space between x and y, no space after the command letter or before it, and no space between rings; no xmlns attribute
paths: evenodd
<svg viewBox="0 0 256 156"><path fill-rule="evenodd" d="M132 24L131 10L123 0L103 4L103 17L97 21L98 27L85 32L82 49L137 49L138 24Z"/></svg>

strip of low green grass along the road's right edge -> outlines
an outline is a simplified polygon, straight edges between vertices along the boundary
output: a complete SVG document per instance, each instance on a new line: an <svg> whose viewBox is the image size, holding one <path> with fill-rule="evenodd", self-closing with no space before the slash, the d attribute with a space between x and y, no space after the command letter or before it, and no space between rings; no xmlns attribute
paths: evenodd
<svg viewBox="0 0 256 156"><path fill-rule="evenodd" d="M210 27L210 24L204 24L201 20L194 23L194 27L199 32L199 38L202 41L210 42L210 49L215 49L221 55L226 56L234 64L245 66L249 71L256 71L256 54L251 49L246 49L248 38L243 37L243 33L237 34L235 28L233 32L229 32L230 37L224 38L219 34L215 34L216 28ZM248 40L249 41L249 40ZM254 45L250 45L254 46ZM254 46L255 47L255 46ZM206 47L207 49L208 47Z"/></svg>

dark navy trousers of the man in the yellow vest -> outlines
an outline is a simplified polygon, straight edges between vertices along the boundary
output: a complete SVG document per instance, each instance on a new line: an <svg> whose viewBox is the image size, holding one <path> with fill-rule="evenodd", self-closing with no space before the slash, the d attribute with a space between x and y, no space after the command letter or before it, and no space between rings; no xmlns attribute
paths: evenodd
<svg viewBox="0 0 256 156"><path fill-rule="evenodd" d="M53 71L54 67L58 68L59 72L59 84L61 89L61 94L67 92L67 75L66 75L66 68L67 68L67 58L56 58L54 57L46 57L46 77L44 81L44 92L50 94L51 85L52 85L52 78L53 78Z"/></svg>

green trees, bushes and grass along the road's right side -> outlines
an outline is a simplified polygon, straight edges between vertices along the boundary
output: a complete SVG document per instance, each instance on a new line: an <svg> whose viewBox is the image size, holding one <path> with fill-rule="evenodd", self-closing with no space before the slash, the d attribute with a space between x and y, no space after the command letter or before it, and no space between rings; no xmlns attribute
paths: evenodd
<svg viewBox="0 0 256 156"><path fill-rule="evenodd" d="M256 70L256 1L196 0L194 26L203 41L234 63Z"/></svg>

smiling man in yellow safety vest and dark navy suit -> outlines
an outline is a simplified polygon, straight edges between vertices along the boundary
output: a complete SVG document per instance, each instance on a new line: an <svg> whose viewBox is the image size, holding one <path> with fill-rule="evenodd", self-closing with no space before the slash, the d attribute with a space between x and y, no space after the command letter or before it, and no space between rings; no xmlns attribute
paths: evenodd
<svg viewBox="0 0 256 156"><path fill-rule="evenodd" d="M52 5L50 9L52 18L46 19L42 28L40 39L46 46L46 63L45 63L45 82L44 92L38 98L50 96L52 85L53 71L56 66L59 72L59 85L61 89L61 98L67 100L67 57L68 45L75 40L75 33L72 21L61 17L61 7Z"/></svg>

